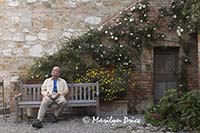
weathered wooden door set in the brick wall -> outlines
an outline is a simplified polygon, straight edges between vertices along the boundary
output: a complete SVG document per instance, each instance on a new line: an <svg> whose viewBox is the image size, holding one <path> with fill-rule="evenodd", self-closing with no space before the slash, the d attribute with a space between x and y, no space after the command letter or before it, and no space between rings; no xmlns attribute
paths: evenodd
<svg viewBox="0 0 200 133"><path fill-rule="evenodd" d="M178 48L154 49L154 98L164 96L166 89L177 87Z"/></svg>

